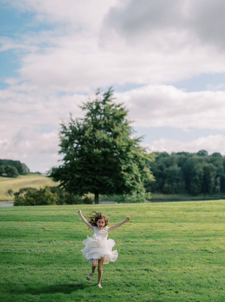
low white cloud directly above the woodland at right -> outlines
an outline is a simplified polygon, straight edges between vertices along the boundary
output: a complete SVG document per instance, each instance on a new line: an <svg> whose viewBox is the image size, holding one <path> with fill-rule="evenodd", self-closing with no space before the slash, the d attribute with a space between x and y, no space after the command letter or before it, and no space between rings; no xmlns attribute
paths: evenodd
<svg viewBox="0 0 225 302"><path fill-rule="evenodd" d="M200 150L206 150L209 154L219 152L225 156L225 136L224 135L209 135L207 137L199 137L196 140L181 142L179 140L169 140L161 138L155 140L148 145L150 152L190 152L195 153Z"/></svg>

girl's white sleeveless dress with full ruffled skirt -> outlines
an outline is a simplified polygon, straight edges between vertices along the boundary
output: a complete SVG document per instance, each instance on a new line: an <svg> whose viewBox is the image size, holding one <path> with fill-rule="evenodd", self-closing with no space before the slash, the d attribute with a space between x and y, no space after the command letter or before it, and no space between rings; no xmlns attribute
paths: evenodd
<svg viewBox="0 0 225 302"><path fill-rule="evenodd" d="M93 237L88 237L82 243L85 245L81 252L89 263L92 259L100 259L105 257L103 264L109 263L110 261L116 261L118 257L117 250L112 251L115 241L108 239L109 227L106 226L103 230L99 230L97 226L94 226Z"/></svg>

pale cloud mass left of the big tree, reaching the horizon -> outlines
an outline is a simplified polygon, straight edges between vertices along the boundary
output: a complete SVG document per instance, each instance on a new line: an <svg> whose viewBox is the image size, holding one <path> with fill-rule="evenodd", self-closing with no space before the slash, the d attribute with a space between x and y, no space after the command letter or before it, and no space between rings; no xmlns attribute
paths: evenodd
<svg viewBox="0 0 225 302"><path fill-rule="evenodd" d="M31 171L46 172L59 159L58 130L62 120L82 117L78 105L86 95L49 95L2 90L0 158L25 162Z"/></svg>

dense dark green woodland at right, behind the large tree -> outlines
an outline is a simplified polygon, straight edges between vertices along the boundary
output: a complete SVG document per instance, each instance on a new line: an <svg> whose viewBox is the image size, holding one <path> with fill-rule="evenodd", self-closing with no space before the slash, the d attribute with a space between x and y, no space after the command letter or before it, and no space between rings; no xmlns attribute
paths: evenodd
<svg viewBox="0 0 225 302"><path fill-rule="evenodd" d="M220 153L152 154L155 161L150 162L150 169L155 181L145 183L146 191L191 195L225 192L225 156Z"/></svg>

